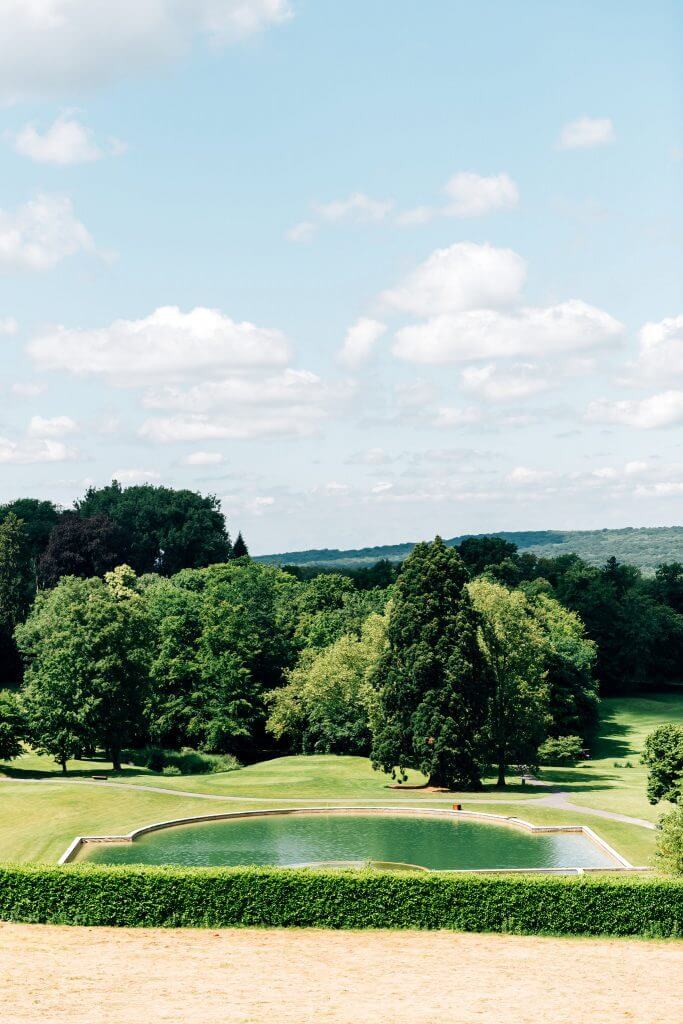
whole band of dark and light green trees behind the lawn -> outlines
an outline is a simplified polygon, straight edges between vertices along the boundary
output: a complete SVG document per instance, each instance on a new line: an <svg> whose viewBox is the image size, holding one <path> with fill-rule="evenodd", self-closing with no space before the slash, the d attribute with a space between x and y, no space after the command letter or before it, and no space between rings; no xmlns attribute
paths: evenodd
<svg viewBox="0 0 683 1024"><path fill-rule="evenodd" d="M288 570L252 561L191 492L113 483L48 505L0 510L0 621L23 677L0 699L2 758L274 749L503 785L512 765L590 746L599 693L677 681L677 563L647 580L437 538L399 567Z"/></svg>

